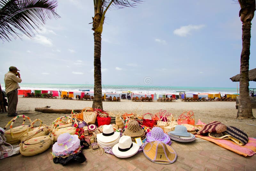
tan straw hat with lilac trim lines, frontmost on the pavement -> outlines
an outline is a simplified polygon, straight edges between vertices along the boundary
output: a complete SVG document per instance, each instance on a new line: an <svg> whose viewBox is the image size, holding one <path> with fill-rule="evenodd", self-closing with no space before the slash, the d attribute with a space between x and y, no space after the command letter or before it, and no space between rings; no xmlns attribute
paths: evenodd
<svg viewBox="0 0 256 171"><path fill-rule="evenodd" d="M158 164L171 164L177 159L173 148L161 141L148 142L143 148L143 153L148 160Z"/></svg>

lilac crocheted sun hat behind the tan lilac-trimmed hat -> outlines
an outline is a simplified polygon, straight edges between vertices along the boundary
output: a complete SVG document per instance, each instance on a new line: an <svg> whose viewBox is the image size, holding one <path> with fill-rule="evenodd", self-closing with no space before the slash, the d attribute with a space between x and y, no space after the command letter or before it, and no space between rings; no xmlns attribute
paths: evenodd
<svg viewBox="0 0 256 171"><path fill-rule="evenodd" d="M161 141L164 144L171 144L170 137L164 133L163 129L160 127L154 127L150 132L147 133L147 142L151 141Z"/></svg>

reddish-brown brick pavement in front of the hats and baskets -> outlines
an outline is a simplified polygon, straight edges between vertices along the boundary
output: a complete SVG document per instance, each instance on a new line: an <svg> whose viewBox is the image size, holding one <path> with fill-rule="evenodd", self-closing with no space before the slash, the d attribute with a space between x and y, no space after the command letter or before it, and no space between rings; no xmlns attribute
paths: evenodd
<svg viewBox="0 0 256 171"><path fill-rule="evenodd" d="M104 153L99 155L98 150L85 150L86 161L84 163L70 163L67 166L55 164L52 161L49 148L44 153L32 157L24 157L21 154L0 160L0 171L168 171L168 170L256 170L256 154L244 157L212 142L196 138L190 143L172 141L171 146L176 151L177 160L168 165L156 164L149 161L142 153L130 158L117 158L114 155Z"/></svg>

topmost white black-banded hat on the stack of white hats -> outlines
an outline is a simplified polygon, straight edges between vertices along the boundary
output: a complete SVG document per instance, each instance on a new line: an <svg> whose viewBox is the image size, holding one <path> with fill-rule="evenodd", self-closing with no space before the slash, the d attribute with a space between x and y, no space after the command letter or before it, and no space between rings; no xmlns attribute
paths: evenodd
<svg viewBox="0 0 256 171"><path fill-rule="evenodd" d="M115 141L120 137L120 132L115 132L112 125L104 125L103 132L97 134L97 140L103 143Z"/></svg>

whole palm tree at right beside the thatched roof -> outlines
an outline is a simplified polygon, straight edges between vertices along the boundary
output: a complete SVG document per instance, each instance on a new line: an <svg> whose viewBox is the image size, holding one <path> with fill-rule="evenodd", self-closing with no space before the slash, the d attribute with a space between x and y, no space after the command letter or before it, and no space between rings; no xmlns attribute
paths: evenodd
<svg viewBox="0 0 256 171"><path fill-rule="evenodd" d="M255 0L238 0L241 10L239 17L242 21L242 53L240 59L240 98L237 111L238 119L254 118L249 97L249 58L251 44L251 21L254 17Z"/></svg>

